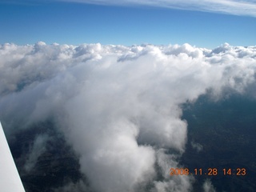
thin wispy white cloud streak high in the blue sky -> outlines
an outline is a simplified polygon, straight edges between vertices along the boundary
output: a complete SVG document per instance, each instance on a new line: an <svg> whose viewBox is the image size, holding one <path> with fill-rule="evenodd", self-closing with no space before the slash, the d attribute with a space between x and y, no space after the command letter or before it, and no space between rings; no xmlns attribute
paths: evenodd
<svg viewBox="0 0 256 192"><path fill-rule="evenodd" d="M63 0L65 2L81 2L90 4L99 4L106 6L156 6L165 7L170 9L180 10L199 10L206 12L215 12L223 14L237 14L237 15L250 15L256 16L256 4L252 0L239 1L239 0L124 0L122 2L117 0Z"/></svg>

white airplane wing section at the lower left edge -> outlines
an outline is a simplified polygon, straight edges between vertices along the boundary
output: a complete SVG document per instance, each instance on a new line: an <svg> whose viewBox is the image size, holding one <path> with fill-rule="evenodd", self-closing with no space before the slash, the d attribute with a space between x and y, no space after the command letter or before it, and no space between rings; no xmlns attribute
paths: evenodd
<svg viewBox="0 0 256 192"><path fill-rule="evenodd" d="M25 192L0 122L0 190Z"/></svg>

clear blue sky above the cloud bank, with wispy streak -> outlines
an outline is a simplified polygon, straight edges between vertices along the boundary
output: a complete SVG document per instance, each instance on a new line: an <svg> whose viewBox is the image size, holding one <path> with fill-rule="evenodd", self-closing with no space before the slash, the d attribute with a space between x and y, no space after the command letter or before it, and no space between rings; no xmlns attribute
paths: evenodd
<svg viewBox="0 0 256 192"><path fill-rule="evenodd" d="M0 1L0 43L256 44L254 1Z"/></svg>

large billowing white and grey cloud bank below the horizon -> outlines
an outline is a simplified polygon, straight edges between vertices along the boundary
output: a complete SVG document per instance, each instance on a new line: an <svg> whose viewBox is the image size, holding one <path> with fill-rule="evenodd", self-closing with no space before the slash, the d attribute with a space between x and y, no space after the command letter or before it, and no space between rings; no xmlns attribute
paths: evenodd
<svg viewBox="0 0 256 192"><path fill-rule="evenodd" d="M255 82L256 48L227 43L207 50L38 42L4 44L0 55L6 129L14 134L54 118L96 191L190 191L194 178L169 175L185 151L181 104L206 92L215 99L226 90L243 94ZM42 138L30 150L31 167Z"/></svg>

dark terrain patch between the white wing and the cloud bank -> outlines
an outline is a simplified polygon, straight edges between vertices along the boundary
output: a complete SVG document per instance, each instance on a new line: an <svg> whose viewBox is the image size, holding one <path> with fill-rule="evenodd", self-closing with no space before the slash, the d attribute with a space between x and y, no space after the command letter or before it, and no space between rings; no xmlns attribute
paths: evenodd
<svg viewBox="0 0 256 192"><path fill-rule="evenodd" d="M45 147L35 165L29 171L24 167L29 158L35 138L47 135ZM34 124L26 130L19 130L10 142L10 150L21 175L26 192L50 192L82 178L78 156L66 143L51 121ZM40 150L40 149L38 149Z"/></svg>

